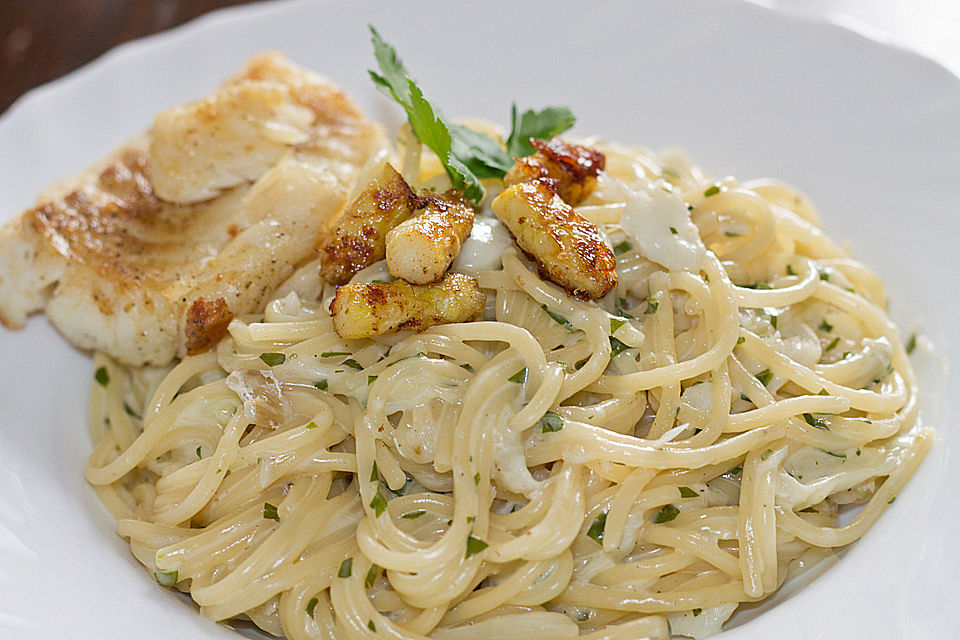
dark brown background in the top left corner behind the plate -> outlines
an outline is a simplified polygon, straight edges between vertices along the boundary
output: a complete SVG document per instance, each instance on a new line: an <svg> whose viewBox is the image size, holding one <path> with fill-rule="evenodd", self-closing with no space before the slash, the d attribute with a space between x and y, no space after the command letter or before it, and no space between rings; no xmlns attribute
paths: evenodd
<svg viewBox="0 0 960 640"><path fill-rule="evenodd" d="M0 0L0 113L113 46L250 0Z"/></svg>

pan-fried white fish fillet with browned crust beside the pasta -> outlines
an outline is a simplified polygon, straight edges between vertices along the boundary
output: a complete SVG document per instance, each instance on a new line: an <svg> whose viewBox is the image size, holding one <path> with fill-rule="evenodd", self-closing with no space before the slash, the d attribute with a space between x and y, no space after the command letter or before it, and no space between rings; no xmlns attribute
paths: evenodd
<svg viewBox="0 0 960 640"><path fill-rule="evenodd" d="M317 256L380 125L276 53L250 60L0 228L0 321L164 364L223 336Z"/></svg>

